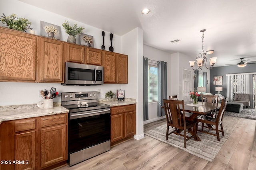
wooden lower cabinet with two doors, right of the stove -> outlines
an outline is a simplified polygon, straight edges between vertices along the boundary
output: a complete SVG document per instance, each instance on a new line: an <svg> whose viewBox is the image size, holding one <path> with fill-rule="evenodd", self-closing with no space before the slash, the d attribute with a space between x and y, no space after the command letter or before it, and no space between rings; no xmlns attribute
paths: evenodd
<svg viewBox="0 0 256 170"><path fill-rule="evenodd" d="M125 141L136 134L136 104L110 107L111 145Z"/></svg>

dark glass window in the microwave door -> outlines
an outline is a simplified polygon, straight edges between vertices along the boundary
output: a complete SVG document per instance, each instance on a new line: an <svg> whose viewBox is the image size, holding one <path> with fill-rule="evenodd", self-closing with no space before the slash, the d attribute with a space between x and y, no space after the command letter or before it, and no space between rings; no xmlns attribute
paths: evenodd
<svg viewBox="0 0 256 170"><path fill-rule="evenodd" d="M94 80L94 70L68 68L68 80Z"/></svg>

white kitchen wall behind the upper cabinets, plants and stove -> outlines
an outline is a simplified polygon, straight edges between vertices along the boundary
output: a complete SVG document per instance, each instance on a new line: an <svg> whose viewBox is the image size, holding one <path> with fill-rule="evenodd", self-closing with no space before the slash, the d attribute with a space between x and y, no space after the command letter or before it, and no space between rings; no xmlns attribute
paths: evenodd
<svg viewBox="0 0 256 170"><path fill-rule="evenodd" d="M68 35L65 33L62 23L64 23L65 20L68 20L70 24L77 23L77 25L80 27L84 27L83 33L86 33L88 35L92 35L94 37L94 47L97 49L101 49L102 45L102 31L101 29L98 29L96 27L92 27L90 25L86 25L85 23L80 23L78 21L71 20L69 18L65 18L63 16L54 14L52 12L48 12L46 10L42 10L40 8L25 4L23 2L20 2L18 0L1 0L0 1L0 11L1 13L4 13L6 16L9 16L10 14L14 13L20 18L27 18L29 21L32 22L31 27L33 30L36 31L36 35L40 35L40 21L45 21L48 23L52 23L55 25L61 26L61 41L66 41ZM2 14L1 14L2 16ZM4 26L2 22L0 22L0 26ZM114 25L113 25L114 26ZM106 50L108 50L108 47L110 46L110 39L107 39L106 37L109 37L108 32L105 31L105 46ZM113 38L113 44L114 52L122 53L121 45L122 43L125 43L125 40L121 42L121 38L118 35L114 34ZM138 40L138 37L136 38L136 41ZM143 37L142 37L143 41ZM78 36L76 37L76 43L80 44L80 40L78 39ZM127 48L129 48L129 51L132 53L133 51L137 52L138 49L134 49L134 47L129 47L130 43L126 45ZM125 46L124 46L125 47ZM128 53L124 53L128 54ZM131 57L135 58L135 57ZM130 59L130 56L128 55L128 75L133 75L133 68L131 66L133 65L133 60ZM131 78L129 78L131 80ZM129 81L128 79L128 81ZM132 81L129 81L127 87L134 86ZM135 84L135 86L137 86ZM115 92L117 89L121 89L122 86L120 84L103 84L100 86L61 86L59 83L19 83L19 82L0 82L0 106L9 106L9 105L19 105L19 104L36 104L38 101L42 100L42 98L39 95L39 90L44 90L46 88L47 90L50 90L51 87L55 87L59 93L61 92L80 92L80 91L98 91L98 89L101 89L101 94L99 98L104 98L105 93L108 90L112 90ZM124 89L126 90L126 89ZM125 94L126 98L136 98L137 93L133 90L126 91ZM60 102L60 98L55 98L54 102Z"/></svg>

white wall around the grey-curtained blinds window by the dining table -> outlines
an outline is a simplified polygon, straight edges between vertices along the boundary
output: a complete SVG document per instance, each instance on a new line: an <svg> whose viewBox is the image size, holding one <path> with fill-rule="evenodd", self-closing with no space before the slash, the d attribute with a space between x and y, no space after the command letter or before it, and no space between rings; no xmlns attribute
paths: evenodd
<svg viewBox="0 0 256 170"><path fill-rule="evenodd" d="M170 87L171 84L171 76L172 76L172 70L171 70L171 54L166 53L164 51L155 49L153 47L150 47L148 45L144 45L143 48L143 55L144 57L147 57L148 59L154 60L154 61L165 61L167 62L167 87ZM142 56L143 59L143 56ZM143 63L142 66L143 68ZM141 84L143 86L143 83ZM167 88L167 96L171 95L171 88ZM157 116L157 102L151 102L148 104L148 120L144 121L144 124L163 119L165 116L158 117Z"/></svg>

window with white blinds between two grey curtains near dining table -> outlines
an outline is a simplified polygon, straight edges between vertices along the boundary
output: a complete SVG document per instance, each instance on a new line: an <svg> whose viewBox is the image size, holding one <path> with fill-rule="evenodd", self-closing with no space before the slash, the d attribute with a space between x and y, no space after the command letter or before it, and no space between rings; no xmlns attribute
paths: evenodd
<svg viewBox="0 0 256 170"><path fill-rule="evenodd" d="M157 94L157 66L148 64L148 102L156 102Z"/></svg>

